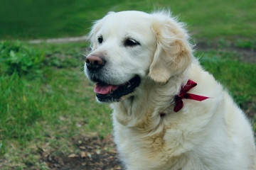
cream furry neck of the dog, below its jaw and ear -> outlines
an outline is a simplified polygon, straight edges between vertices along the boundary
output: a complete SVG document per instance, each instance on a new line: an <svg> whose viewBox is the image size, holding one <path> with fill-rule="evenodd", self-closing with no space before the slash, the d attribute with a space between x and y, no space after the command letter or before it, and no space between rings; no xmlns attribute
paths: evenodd
<svg viewBox="0 0 256 170"><path fill-rule="evenodd" d="M147 130L156 128L163 113L170 114L170 111L173 111L174 98L179 93L181 84L188 81L186 72L171 77L165 84L156 83L150 78L142 80L133 96L112 104L114 118L130 128ZM151 119L158 121L151 122ZM148 126L142 127L142 125Z"/></svg>

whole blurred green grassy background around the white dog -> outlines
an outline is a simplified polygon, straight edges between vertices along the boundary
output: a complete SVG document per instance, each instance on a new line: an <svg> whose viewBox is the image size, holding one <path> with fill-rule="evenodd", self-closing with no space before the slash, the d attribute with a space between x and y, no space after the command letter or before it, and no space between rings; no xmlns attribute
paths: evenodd
<svg viewBox="0 0 256 170"><path fill-rule="evenodd" d="M0 0L0 169L52 169L49 157L80 154L81 137L112 132L83 74L89 44L27 40L86 35L108 11L162 9L187 24L194 55L256 131L255 0Z"/></svg>

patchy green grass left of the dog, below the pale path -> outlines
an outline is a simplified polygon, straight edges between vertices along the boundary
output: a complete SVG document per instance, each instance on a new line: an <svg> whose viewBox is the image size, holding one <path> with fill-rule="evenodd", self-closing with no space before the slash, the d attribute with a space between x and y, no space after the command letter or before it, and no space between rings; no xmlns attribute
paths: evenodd
<svg viewBox="0 0 256 170"><path fill-rule="evenodd" d="M104 136L111 132L110 109L95 102L93 84L82 72L81 51L86 44L28 47L20 42L4 43L8 45L2 46L22 51L31 58L41 56L43 51L44 59L41 67L33 67L29 72L1 70L1 157L10 160L12 166L28 167L38 164L38 148L50 146L68 153L72 150L67 147L71 137L92 133ZM8 53L0 48L3 51ZM9 66L5 58L1 60L1 68Z"/></svg>

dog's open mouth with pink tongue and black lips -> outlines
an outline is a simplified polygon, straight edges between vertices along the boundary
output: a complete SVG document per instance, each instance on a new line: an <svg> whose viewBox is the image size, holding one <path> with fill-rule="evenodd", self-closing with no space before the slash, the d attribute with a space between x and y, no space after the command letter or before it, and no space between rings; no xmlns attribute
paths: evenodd
<svg viewBox="0 0 256 170"><path fill-rule="evenodd" d="M111 85L99 82L96 84L94 92L101 102L119 101L122 96L131 94L139 86L140 78L135 76L124 84Z"/></svg>

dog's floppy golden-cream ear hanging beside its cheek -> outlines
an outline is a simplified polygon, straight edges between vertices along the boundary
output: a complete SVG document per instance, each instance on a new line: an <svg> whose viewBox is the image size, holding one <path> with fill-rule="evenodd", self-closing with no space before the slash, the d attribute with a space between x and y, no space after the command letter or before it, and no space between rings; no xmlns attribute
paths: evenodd
<svg viewBox="0 0 256 170"><path fill-rule="evenodd" d="M149 68L149 77L164 83L172 76L184 72L191 64L193 54L182 23L164 12L153 13L152 16L156 51Z"/></svg>

